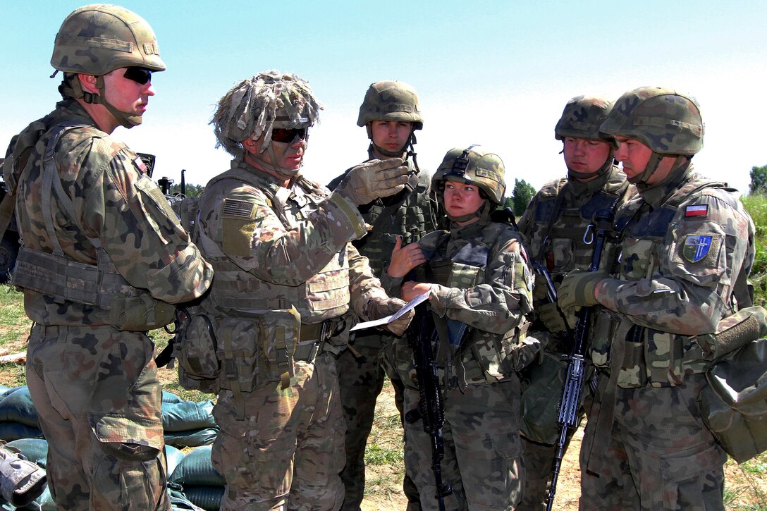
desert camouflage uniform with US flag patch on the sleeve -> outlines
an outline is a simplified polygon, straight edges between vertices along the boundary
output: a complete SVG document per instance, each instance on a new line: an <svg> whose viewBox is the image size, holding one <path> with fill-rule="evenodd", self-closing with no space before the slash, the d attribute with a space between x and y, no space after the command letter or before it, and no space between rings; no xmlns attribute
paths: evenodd
<svg viewBox="0 0 767 511"><path fill-rule="evenodd" d="M248 324L245 316L256 314L263 325L246 339L257 346L252 374L241 392L222 383L213 410L221 433L212 461L227 482L222 509L341 506L346 427L333 353L346 344L350 308L367 319L369 298L387 298L348 243L364 233L356 206L300 174L289 188L280 183L234 160L200 203L199 245L217 272L203 306L216 318L219 344L226 321ZM288 381L262 350L294 340L281 319L291 308L301 334ZM340 335L320 342L323 324Z"/></svg>

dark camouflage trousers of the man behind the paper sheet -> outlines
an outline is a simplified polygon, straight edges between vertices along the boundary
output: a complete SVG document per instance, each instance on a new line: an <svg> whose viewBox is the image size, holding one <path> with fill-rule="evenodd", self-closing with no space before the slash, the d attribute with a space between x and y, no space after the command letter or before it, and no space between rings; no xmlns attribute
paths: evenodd
<svg viewBox="0 0 767 511"><path fill-rule="evenodd" d="M394 345L403 343L378 332L358 336L337 357L338 379L341 384L341 404L346 420L346 465L341 472L344 483L344 511L357 511L364 498L365 447L373 427L376 399L384 387L384 374L394 387L394 403L402 420L403 383L394 367ZM408 498L407 509L420 509L418 490L405 477L403 490Z"/></svg>

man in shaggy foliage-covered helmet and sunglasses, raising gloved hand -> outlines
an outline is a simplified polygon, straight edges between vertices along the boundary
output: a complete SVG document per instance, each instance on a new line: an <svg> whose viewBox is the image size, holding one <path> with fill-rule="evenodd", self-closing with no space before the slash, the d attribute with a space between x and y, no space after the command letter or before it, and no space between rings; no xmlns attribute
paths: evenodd
<svg viewBox="0 0 767 511"><path fill-rule="evenodd" d="M407 166L363 163L333 193L308 180L300 168L320 109L306 81L265 71L225 94L212 120L234 157L202 194L198 231L216 270L202 306L222 350L212 450L221 509L341 507L334 355L352 313L376 319L404 305L350 242L366 232L357 208L403 190ZM387 328L401 335L411 315Z"/></svg>

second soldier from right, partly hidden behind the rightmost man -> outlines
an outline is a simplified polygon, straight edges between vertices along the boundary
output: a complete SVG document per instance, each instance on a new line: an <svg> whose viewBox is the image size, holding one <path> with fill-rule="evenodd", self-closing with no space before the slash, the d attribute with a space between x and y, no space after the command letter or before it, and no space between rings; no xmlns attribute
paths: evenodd
<svg viewBox="0 0 767 511"><path fill-rule="evenodd" d="M628 190L626 175L614 164L617 143L603 139L599 133L612 106L612 101L604 97L578 96L568 101L554 130L556 139L562 141L568 176L538 190L519 220L528 253L547 267L556 284L567 272L587 269L591 263L592 246L584 241L584 232L594 212L603 208L615 211L634 188ZM545 506L546 483L559 437L555 401L560 397L548 383L554 373L564 371L563 359L572 349L565 335L565 317L557 304L548 302L546 283L537 274L536 279L532 335L549 340L544 358L531 364L524 374L524 380L532 383L523 397L525 484L517 509ZM549 398L542 399L538 394L548 394ZM540 414L532 413L539 403L549 406ZM529 427L525 425L528 422Z"/></svg>

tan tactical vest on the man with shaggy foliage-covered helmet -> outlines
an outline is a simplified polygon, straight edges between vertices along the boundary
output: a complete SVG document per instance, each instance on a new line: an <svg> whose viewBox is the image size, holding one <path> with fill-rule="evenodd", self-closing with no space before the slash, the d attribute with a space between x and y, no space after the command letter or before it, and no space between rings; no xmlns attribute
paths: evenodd
<svg viewBox="0 0 767 511"><path fill-rule="evenodd" d="M207 185L210 189L222 180L238 180L264 193L284 226L290 227L291 220L285 213L304 219L325 199L325 194L314 184L300 177L297 186L310 193L283 197L281 190L254 173L243 168L233 168L213 178ZM349 262L345 250L341 250L317 275L301 285L280 285L263 282L244 272L225 255L219 246L202 229L197 229L199 247L211 263L216 279L211 286L210 299L220 311L284 310L291 306L298 310L301 322L320 323L337 318L349 310Z"/></svg>

